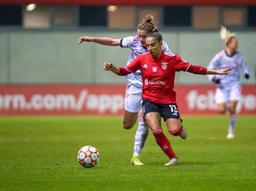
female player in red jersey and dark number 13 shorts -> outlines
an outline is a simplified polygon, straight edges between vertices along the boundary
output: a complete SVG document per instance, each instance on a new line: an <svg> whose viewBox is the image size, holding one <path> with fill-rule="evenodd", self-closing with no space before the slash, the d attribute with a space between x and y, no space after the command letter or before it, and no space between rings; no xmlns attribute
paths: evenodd
<svg viewBox="0 0 256 191"><path fill-rule="evenodd" d="M138 56L126 67L115 67L112 63L104 63L104 71L112 71L117 75L128 75L142 71L142 107L145 119L155 136L157 144L170 158L165 165L179 164L178 157L174 154L170 142L163 134L160 125L161 116L167 124L171 135L180 136L184 129L180 122L180 114L176 105L176 93L174 88L175 72L183 71L193 74L228 74L231 68L214 70L202 66L193 66L185 62L180 56L173 53L164 53L162 36L154 30L147 35L146 39L149 53Z"/></svg>

